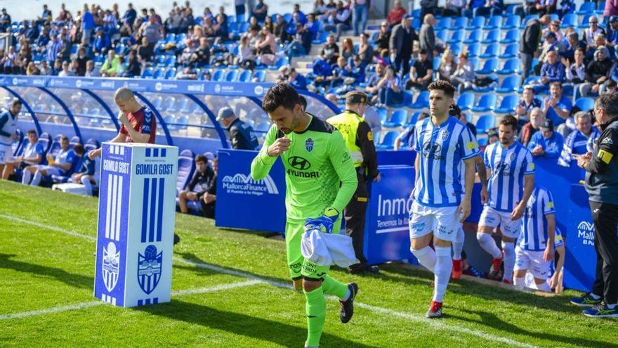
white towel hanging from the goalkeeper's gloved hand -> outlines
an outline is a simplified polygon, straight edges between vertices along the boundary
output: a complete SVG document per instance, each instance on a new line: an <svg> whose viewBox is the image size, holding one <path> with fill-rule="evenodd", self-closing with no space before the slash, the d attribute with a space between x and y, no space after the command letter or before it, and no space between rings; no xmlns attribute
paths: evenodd
<svg viewBox="0 0 618 348"><path fill-rule="evenodd" d="M352 238L344 234L320 233L316 229L303 234L301 253L317 266L336 264L345 268L359 262L354 254Z"/></svg>

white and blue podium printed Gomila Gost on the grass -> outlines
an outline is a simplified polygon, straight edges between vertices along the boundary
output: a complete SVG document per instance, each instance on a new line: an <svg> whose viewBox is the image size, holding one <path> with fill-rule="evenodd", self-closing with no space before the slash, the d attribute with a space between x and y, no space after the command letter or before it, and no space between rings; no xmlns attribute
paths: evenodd
<svg viewBox="0 0 618 348"><path fill-rule="evenodd" d="M100 174L94 296L169 302L178 148L103 143Z"/></svg>

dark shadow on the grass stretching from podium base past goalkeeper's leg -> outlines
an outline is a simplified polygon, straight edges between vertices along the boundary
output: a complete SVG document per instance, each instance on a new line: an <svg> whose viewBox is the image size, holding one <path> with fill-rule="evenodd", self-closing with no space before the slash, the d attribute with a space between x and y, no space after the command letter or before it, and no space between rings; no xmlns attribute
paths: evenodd
<svg viewBox="0 0 618 348"><path fill-rule="evenodd" d="M242 306L239 309L242 309ZM264 309L265 312L268 312L268 308ZM173 299L169 304L139 307L137 310L177 321L184 321L185 323L223 330L233 335L256 338L284 347L301 347L303 340L307 336L305 328L298 326L232 311L223 311L203 304L178 301L176 299ZM204 344L207 345L207 342L204 342ZM321 344L322 347L373 347L330 335L329 333L322 335Z"/></svg>

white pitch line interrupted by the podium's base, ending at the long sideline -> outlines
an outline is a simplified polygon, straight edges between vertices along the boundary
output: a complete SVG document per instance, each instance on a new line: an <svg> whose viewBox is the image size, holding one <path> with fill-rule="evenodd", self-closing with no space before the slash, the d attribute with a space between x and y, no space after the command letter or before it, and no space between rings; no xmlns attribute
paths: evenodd
<svg viewBox="0 0 618 348"><path fill-rule="evenodd" d="M240 281L240 282L237 282L237 283L228 283L228 284L221 284L221 285L211 286L210 288L195 288L195 289L173 291L171 293L171 295L173 295L173 296L197 295L197 294L204 294L206 292L217 292L217 291L221 291L221 290L230 290L230 289L235 289L235 288L245 288L247 286L256 285L256 284L262 284L262 283L265 283L265 282L257 281L257 280ZM104 304L107 304L107 302L91 301L91 302L81 302L81 303L76 303L76 304L69 304L67 306L58 306L58 307L52 307L52 308L47 308L47 309L39 309L38 311L22 311L21 313L12 313L12 314L1 315L0 316L0 320L27 318L29 316L42 316L42 315L45 315L45 314L54 314L54 313L58 313L58 312L61 312L61 311L74 311L74 310L77 310L77 309L84 309L84 308L89 308L89 307L103 306ZM137 307L133 307L133 308L137 308Z"/></svg>

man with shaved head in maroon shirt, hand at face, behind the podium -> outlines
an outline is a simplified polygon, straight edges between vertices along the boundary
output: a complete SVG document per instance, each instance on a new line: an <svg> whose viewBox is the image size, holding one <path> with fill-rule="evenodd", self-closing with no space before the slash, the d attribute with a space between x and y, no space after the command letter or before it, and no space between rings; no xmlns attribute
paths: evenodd
<svg viewBox="0 0 618 348"><path fill-rule="evenodd" d="M131 89L121 87L114 94L114 103L120 109L118 120L122 124L112 143L155 143L157 120L155 114L136 101ZM88 157L94 160L101 155L101 148L92 150Z"/></svg>

